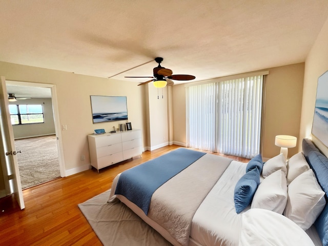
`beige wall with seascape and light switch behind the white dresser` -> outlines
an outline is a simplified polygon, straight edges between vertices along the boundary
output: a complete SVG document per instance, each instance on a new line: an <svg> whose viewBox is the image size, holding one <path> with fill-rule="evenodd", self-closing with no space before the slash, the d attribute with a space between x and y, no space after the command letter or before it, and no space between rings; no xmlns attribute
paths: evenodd
<svg viewBox="0 0 328 246"><path fill-rule="evenodd" d="M126 122L92 124L90 95L127 96L129 121L133 128L142 130L143 141L146 140L144 89L135 83L4 62L0 62L0 75L7 80L56 85L59 123L68 128L61 130L66 170L89 167L87 135L94 129L104 128L108 132ZM81 160L81 155L86 159Z"/></svg>

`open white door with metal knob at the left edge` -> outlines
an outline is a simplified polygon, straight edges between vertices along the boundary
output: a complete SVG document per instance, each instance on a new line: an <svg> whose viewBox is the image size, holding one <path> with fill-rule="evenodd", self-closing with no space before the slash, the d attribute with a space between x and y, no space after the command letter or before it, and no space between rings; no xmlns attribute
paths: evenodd
<svg viewBox="0 0 328 246"><path fill-rule="evenodd" d="M1 160L5 160L6 162L6 165L3 165L3 167L5 166L6 169L3 171L5 175L8 175L8 180L5 179L5 181L7 180L9 182L9 185L7 185L10 189L9 194L14 194L20 209L24 209L25 205L23 199L23 191L22 186L20 185L14 134L9 114L6 79L4 76L1 76L0 85L0 124L0 132L2 138L0 154L2 155Z"/></svg>

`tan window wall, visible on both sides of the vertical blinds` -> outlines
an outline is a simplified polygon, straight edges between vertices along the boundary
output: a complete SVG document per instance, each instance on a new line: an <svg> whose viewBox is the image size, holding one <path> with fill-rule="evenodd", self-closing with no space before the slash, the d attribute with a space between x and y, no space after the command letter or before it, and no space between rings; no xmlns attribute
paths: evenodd
<svg viewBox="0 0 328 246"><path fill-rule="evenodd" d="M280 134L299 136L304 63L271 68L266 81L262 156L271 158L280 152L274 145ZM186 145L185 85L173 87L174 142ZM297 153L289 149L289 156Z"/></svg>

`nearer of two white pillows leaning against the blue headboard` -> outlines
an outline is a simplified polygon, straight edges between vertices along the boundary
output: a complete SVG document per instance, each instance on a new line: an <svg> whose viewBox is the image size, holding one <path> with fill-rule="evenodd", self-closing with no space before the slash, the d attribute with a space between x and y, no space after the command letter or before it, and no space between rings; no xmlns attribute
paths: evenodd
<svg viewBox="0 0 328 246"><path fill-rule="evenodd" d="M283 214L304 231L308 230L326 204L324 194L315 174L310 169L290 183L286 209Z"/></svg>

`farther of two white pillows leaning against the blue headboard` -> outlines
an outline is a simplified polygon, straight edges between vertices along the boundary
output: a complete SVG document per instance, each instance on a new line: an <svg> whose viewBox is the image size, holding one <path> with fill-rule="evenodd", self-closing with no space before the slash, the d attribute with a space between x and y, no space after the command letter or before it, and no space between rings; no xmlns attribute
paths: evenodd
<svg viewBox="0 0 328 246"><path fill-rule="evenodd" d="M302 152L293 155L287 164L287 185L289 185L298 175L309 169L310 166Z"/></svg>

